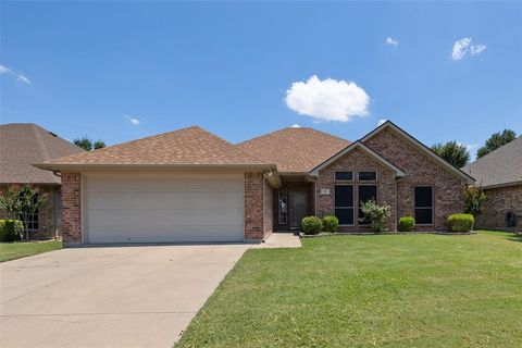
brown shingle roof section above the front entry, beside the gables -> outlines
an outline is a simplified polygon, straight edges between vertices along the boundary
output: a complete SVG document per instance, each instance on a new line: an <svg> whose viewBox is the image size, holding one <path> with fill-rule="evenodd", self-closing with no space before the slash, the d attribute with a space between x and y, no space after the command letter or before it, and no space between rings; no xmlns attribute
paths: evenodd
<svg viewBox="0 0 522 348"><path fill-rule="evenodd" d="M239 142L238 148L277 165L279 173L308 173L351 142L313 128L283 128Z"/></svg>

